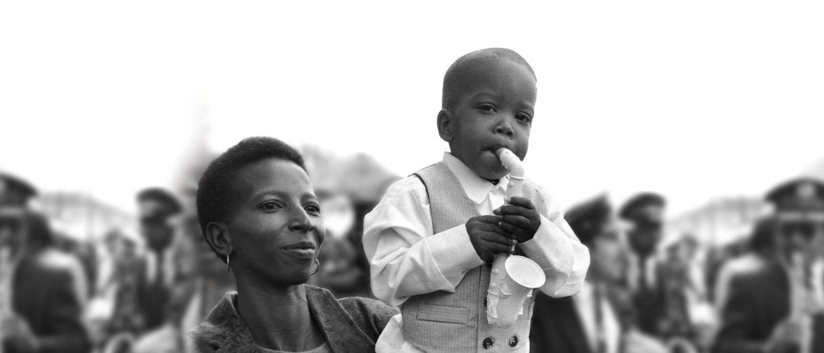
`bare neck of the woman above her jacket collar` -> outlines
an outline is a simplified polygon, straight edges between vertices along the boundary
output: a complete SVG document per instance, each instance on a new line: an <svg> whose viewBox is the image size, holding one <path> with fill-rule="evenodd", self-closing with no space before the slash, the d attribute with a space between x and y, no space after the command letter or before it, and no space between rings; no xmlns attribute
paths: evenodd
<svg viewBox="0 0 824 353"><path fill-rule="evenodd" d="M278 351L309 351L325 338L313 324L303 285L260 285L236 278L237 312L255 344Z"/></svg>

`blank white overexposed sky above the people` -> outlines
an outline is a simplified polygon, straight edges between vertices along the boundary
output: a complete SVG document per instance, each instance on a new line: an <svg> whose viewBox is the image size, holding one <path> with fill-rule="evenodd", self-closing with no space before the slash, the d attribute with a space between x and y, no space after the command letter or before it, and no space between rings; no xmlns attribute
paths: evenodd
<svg viewBox="0 0 824 353"><path fill-rule="evenodd" d="M515 49L538 77L527 174L564 200L761 195L824 157L824 2L2 2L0 169L133 209L190 141L447 145L442 75ZM205 121L208 129L196 125Z"/></svg>

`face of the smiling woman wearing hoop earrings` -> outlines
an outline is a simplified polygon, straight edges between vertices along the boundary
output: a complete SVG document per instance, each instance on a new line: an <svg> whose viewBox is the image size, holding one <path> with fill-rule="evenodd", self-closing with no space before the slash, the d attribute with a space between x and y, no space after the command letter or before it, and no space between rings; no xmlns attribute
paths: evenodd
<svg viewBox="0 0 824 353"><path fill-rule="evenodd" d="M306 282L325 237L307 173L294 162L269 158L241 168L232 191L227 235L236 277L261 284Z"/></svg>

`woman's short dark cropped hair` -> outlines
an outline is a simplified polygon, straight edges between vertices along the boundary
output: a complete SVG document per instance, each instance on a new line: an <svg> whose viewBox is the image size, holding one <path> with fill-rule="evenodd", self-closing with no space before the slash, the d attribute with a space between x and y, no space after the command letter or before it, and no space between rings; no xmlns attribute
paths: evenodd
<svg viewBox="0 0 824 353"><path fill-rule="evenodd" d="M200 176L196 205L200 230L206 236L206 226L225 220L231 211L232 179L242 167L267 158L295 162L306 171L301 153L295 148L271 137L250 137L227 149L215 158ZM214 249L213 249L214 250ZM222 261L226 261L215 252Z"/></svg>

